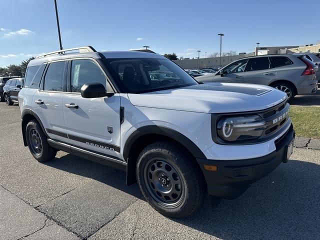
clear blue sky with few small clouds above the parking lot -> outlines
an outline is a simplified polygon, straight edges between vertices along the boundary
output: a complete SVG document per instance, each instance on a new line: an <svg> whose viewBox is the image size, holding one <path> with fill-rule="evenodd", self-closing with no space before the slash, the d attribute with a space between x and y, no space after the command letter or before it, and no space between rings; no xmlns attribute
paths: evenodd
<svg viewBox="0 0 320 240"><path fill-rule="evenodd" d="M316 44L319 19L302 0L56 0L64 49L150 46L200 58L259 46ZM59 49L54 0L0 0L0 67ZM313 14L315 16L316 14Z"/></svg>

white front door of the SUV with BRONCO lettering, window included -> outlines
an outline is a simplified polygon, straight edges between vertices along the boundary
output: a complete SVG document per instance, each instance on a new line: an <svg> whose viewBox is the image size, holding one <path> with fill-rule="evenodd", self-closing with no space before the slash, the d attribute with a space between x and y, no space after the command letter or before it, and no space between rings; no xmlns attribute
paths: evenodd
<svg viewBox="0 0 320 240"><path fill-rule="evenodd" d="M106 88L106 77L93 59L76 59L70 66L71 92L62 100L63 116L69 142L73 146L104 155L120 155L120 97L83 98L80 88L89 82L100 82Z"/></svg>

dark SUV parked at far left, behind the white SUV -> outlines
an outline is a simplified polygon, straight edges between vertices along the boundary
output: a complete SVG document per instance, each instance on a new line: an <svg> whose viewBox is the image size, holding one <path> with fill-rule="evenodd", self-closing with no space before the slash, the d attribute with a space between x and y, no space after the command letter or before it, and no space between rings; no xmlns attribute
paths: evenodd
<svg viewBox="0 0 320 240"><path fill-rule="evenodd" d="M3 86L3 98L7 105L18 102L18 93L23 87L24 77L12 78L6 81Z"/></svg>

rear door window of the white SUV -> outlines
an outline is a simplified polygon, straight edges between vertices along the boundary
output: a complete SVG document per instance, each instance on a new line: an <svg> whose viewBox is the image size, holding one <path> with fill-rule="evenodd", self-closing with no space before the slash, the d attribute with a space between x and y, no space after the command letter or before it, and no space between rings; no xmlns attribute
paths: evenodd
<svg viewBox="0 0 320 240"><path fill-rule="evenodd" d="M44 90L63 91L64 61L52 62L44 76Z"/></svg>

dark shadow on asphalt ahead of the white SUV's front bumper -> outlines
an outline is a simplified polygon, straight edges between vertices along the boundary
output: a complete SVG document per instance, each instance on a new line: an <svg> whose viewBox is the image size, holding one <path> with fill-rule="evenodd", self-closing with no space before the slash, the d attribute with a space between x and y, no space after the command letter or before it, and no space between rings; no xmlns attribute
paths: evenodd
<svg viewBox="0 0 320 240"><path fill-rule="evenodd" d="M239 198L177 222L221 239L319 239L320 165L280 164Z"/></svg>

